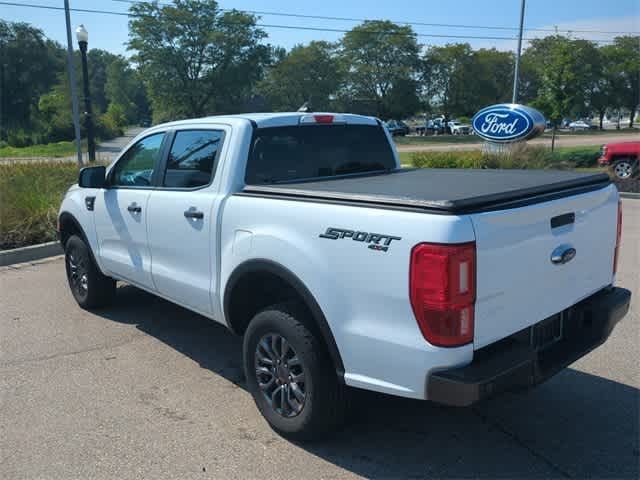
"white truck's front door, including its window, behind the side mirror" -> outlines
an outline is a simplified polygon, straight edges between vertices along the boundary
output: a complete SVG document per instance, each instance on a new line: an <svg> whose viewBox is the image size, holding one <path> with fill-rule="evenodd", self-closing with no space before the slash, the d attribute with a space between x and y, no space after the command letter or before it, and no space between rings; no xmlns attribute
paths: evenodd
<svg viewBox="0 0 640 480"><path fill-rule="evenodd" d="M106 273L152 288L147 244L147 203L165 134L153 133L129 148L111 169L109 186L94 202L96 236Z"/></svg>

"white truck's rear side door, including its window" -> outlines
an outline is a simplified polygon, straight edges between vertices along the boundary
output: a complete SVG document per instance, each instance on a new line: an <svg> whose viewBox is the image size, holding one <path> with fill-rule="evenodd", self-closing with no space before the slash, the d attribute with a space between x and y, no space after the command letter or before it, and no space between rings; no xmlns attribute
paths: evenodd
<svg viewBox="0 0 640 480"><path fill-rule="evenodd" d="M158 293L212 312L218 194L216 167L226 127L179 129L168 140L157 188L149 198L151 272Z"/></svg>

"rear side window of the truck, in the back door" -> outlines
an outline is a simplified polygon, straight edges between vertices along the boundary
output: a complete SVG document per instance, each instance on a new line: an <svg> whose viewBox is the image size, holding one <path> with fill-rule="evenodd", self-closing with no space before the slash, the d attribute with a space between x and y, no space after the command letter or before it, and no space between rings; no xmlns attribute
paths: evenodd
<svg viewBox="0 0 640 480"><path fill-rule="evenodd" d="M195 188L208 185L215 175L216 159L222 146L221 130L180 130L176 132L167 158L163 185Z"/></svg>

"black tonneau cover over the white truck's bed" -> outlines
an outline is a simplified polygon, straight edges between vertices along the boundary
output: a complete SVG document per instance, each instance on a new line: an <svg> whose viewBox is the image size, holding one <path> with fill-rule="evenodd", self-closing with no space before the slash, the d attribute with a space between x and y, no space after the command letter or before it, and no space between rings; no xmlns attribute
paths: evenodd
<svg viewBox="0 0 640 480"><path fill-rule="evenodd" d="M242 194L462 214L539 203L596 190L609 183L606 173L421 168L247 185Z"/></svg>

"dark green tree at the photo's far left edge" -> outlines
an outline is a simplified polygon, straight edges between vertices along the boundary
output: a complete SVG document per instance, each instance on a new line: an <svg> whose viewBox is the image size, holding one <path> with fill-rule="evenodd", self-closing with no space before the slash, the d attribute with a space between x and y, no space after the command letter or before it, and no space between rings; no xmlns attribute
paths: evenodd
<svg viewBox="0 0 640 480"><path fill-rule="evenodd" d="M27 23L0 20L0 139L31 129L40 95L64 69L64 50Z"/></svg>

